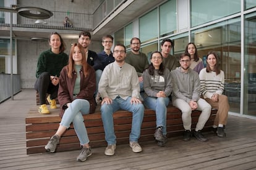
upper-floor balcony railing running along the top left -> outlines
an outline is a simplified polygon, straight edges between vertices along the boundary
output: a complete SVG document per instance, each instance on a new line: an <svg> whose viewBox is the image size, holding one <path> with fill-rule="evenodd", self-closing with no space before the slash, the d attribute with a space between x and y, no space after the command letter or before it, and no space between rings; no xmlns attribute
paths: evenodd
<svg viewBox="0 0 256 170"><path fill-rule="evenodd" d="M17 24L13 24L13 26L17 27L25 27L25 28L48 28L48 29L58 29L58 30L88 30L93 31L98 25L100 25L109 15L113 14L113 12L121 6L127 0L105 0L102 1L100 6L95 10L93 14L81 14L75 12L59 12L59 11L51 11L53 12L53 16L46 19L46 25L36 25L35 19L25 18L18 14L17 15ZM9 14L9 12L1 12L0 11L0 26L9 26L9 21L6 21L5 15ZM65 27L64 26L64 18L69 17L73 26Z"/></svg>

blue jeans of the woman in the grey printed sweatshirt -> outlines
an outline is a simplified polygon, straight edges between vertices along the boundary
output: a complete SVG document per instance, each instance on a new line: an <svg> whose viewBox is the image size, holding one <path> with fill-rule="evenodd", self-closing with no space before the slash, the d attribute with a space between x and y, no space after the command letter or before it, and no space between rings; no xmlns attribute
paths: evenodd
<svg viewBox="0 0 256 170"><path fill-rule="evenodd" d="M156 127L163 126L163 135L167 134L166 131L166 114L167 106L169 104L169 97L146 97L144 98L144 105L147 108L156 111Z"/></svg>

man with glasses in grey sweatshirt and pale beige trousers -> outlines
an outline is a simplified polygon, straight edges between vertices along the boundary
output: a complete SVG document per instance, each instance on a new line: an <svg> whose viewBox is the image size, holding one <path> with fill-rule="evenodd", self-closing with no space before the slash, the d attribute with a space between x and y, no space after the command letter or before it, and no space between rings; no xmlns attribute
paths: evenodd
<svg viewBox="0 0 256 170"><path fill-rule="evenodd" d="M207 123L211 114L211 105L200 98L200 79L198 73L191 70L190 54L183 53L179 59L181 67L171 71L173 81L173 92L171 94L173 106L179 108L182 112L182 122L185 129L184 141L190 140L192 134L200 141L205 142L208 139L202 134L202 129ZM192 110L202 111L195 131L191 132Z"/></svg>

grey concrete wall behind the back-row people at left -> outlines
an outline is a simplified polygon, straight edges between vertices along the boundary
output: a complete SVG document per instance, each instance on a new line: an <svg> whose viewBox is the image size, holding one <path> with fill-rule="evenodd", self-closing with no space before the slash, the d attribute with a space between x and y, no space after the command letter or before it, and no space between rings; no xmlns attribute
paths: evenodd
<svg viewBox="0 0 256 170"><path fill-rule="evenodd" d="M64 39L69 54L70 44L77 39ZM36 63L41 52L49 49L48 41L32 41L30 39L19 39L17 41L18 73L20 74L21 88L33 89L36 81ZM101 42L91 42L89 49L96 53L102 50Z"/></svg>

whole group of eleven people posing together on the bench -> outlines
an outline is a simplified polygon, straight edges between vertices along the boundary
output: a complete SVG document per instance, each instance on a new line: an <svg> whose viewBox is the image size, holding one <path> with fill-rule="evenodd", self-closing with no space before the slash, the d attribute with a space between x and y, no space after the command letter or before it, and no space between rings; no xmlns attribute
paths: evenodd
<svg viewBox="0 0 256 170"><path fill-rule="evenodd" d="M147 55L140 52L140 39L130 40L129 52L123 44L113 48L113 36L102 38L103 51L90 51L91 34L82 31L78 42L72 44L69 56L64 53L66 45L61 36L54 32L49 37L51 49L42 52L36 69L35 89L40 96L38 111L48 114L46 100L50 108L57 108L58 96L61 107L61 123L58 130L46 144L48 152L55 152L62 134L73 123L82 150L77 161L85 161L92 155L83 115L94 113L96 100L101 105L107 147L105 155L114 155L116 136L113 114L119 109L132 112L132 127L129 145L135 153L142 152L139 145L140 128L144 106L156 111L155 140L159 146L167 142L166 113L169 102L182 112L184 138L188 141L195 136L207 141L202 129L211 108L218 109L213 129L219 137L224 137L224 127L228 118L228 98L223 95L224 73L218 65L218 55L209 52L207 67L197 54L197 48L190 42L179 59L170 55L174 46L171 39L163 39L161 52ZM49 94L47 97L46 95ZM96 99L95 99L96 98ZM192 110L200 110L195 130L191 130Z"/></svg>

